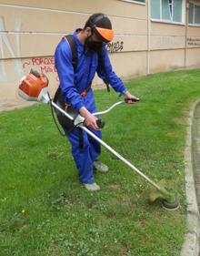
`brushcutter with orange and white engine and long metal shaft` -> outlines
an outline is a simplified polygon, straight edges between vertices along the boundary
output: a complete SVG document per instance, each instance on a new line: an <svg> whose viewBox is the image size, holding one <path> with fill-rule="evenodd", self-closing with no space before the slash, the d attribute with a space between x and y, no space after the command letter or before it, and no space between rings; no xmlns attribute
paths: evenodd
<svg viewBox="0 0 200 256"><path fill-rule="evenodd" d="M37 71L31 70L31 72L26 77L22 78L22 83L18 88L18 94L20 97L23 97L25 100L28 101L37 101L52 105L53 108L55 108L57 111L60 111L63 115L65 115L66 118L69 118L71 121L73 121L75 127L81 128L89 136L95 138L95 140L97 140L101 145L103 145L112 154L114 154L116 158L122 160L130 169L134 170L139 176L141 176L148 183L150 183L154 187L154 189L152 189L152 191L150 192L150 203L155 202L155 200L159 200L166 210L176 210L179 207L179 202L176 200L175 195L165 189L164 179L157 183L155 183L154 180L149 179L141 170L135 168L135 166L130 161L117 153L114 148L111 148L101 138L96 137L90 129L86 128L85 118L83 118L80 114L78 114L76 117L72 117L64 109L60 108L57 104L55 104L55 102L49 96L48 79L47 77L45 77L44 74L39 74ZM112 107L106 109L105 111L96 112L93 113L93 115L103 115L123 103L125 103L125 101L116 102ZM98 120L98 122L100 128L103 128L105 123L101 120Z"/></svg>

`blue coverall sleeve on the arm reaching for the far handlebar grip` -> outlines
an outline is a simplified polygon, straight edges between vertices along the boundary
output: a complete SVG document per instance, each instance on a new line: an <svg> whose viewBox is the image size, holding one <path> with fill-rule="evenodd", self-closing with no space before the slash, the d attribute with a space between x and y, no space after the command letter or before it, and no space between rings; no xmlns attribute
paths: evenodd
<svg viewBox="0 0 200 256"><path fill-rule="evenodd" d="M105 72L108 77L109 84L111 85L111 87L115 89L116 92L119 92L122 94L125 93L127 88L125 87L123 81L119 77L117 77L115 72L113 71L113 67L110 63L110 59L105 46L103 46L103 57L105 61ZM105 72L104 72L104 67L102 66L102 63L100 62L98 63L96 72L98 77L105 80Z"/></svg>

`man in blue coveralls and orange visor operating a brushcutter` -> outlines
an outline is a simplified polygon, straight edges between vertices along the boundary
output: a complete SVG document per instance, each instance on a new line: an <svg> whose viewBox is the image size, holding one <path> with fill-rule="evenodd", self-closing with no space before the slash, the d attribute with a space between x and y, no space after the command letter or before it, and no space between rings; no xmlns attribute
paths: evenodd
<svg viewBox="0 0 200 256"><path fill-rule="evenodd" d="M55 68L60 80L60 88L65 102L75 108L84 118L85 125L96 136L102 137L101 130L96 124L95 98L91 83L95 72L103 80L115 89L117 93L124 95L129 104L134 104L137 97L131 95L122 80L115 75L112 69L105 43L114 37L109 18L104 14L94 14L85 23L84 29L76 29L73 34L77 49L77 67L73 67L72 49L63 38L55 49ZM101 51L102 58L98 52ZM102 61L102 59L104 61ZM106 172L107 166L98 160L100 144L83 131L83 147L80 148L80 128L74 128L69 134L65 131L71 143L72 155L78 169L80 181L90 191L99 190L95 183L94 169Z"/></svg>

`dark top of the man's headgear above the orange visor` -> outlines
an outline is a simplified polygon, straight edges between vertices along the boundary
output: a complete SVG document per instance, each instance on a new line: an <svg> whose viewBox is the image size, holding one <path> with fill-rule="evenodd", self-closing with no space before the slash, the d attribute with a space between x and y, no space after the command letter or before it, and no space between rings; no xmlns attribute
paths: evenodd
<svg viewBox="0 0 200 256"><path fill-rule="evenodd" d="M86 21L84 29L88 26L91 28L98 26L98 27L103 27L107 29L112 29L110 19L102 13L96 13L94 15L91 15Z"/></svg>

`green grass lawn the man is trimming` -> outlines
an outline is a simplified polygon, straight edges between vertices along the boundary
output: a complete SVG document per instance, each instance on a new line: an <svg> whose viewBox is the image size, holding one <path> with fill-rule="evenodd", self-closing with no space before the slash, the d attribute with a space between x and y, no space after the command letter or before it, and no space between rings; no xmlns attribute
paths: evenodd
<svg viewBox="0 0 200 256"><path fill-rule="evenodd" d="M141 101L115 108L104 140L154 179L166 179L179 210L148 204L147 182L105 148L110 168L95 173L101 191L80 184L69 143L48 106L0 113L1 256L176 256L185 234L186 118L200 96L200 70L127 82ZM95 91L99 109L118 100Z"/></svg>

